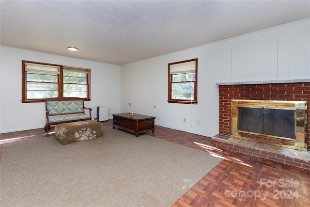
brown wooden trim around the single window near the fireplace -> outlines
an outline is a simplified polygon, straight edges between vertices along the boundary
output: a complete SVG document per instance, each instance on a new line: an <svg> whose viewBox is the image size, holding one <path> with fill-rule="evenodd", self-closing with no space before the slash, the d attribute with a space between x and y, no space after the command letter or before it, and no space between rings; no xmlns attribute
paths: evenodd
<svg viewBox="0 0 310 207"><path fill-rule="evenodd" d="M195 82L194 82L194 87L195 87L194 99L193 100L190 100L190 99L173 99L172 98L172 74L170 74L170 65L182 64L182 63L192 62L192 61L196 62L196 68L195 68L195 76L196 77L195 77ZM198 73L197 72L198 72L198 58L168 64L168 103L198 104L198 101L197 101Z"/></svg>

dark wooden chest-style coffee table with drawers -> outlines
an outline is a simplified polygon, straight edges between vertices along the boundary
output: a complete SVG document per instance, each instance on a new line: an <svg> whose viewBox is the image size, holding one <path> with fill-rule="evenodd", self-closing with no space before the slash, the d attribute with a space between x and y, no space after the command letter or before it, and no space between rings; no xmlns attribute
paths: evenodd
<svg viewBox="0 0 310 207"><path fill-rule="evenodd" d="M151 131L154 133L155 130L155 117L146 116L138 113L134 113L130 116L130 113L114 113L113 115L113 128L118 127L126 131L139 134L146 131Z"/></svg>

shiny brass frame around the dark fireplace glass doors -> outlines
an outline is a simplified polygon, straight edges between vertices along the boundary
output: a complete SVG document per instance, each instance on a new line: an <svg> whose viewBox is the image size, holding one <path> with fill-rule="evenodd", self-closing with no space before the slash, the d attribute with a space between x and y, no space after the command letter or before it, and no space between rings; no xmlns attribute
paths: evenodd
<svg viewBox="0 0 310 207"><path fill-rule="evenodd" d="M307 151L307 101L232 100L231 104L231 135L233 137ZM239 107L294 110L294 139L239 130Z"/></svg>

